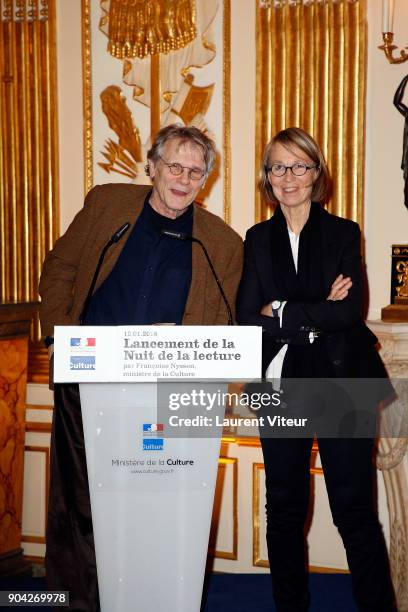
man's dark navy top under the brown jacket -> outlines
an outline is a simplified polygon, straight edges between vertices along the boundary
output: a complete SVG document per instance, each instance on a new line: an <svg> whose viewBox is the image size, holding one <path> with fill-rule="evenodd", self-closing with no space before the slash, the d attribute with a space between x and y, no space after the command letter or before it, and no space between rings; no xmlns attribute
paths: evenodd
<svg viewBox="0 0 408 612"><path fill-rule="evenodd" d="M191 234L193 207L169 219L150 206L149 198L115 267L94 293L85 325L181 323L191 284L191 242L160 232Z"/></svg>

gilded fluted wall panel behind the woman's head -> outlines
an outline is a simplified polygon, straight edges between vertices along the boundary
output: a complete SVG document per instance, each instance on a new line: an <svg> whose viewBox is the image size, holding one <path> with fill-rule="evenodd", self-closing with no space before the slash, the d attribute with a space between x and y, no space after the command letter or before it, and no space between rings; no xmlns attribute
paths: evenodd
<svg viewBox="0 0 408 612"><path fill-rule="evenodd" d="M257 2L256 168L278 131L310 132L333 178L331 212L362 224L365 0ZM256 194L256 218L271 215Z"/></svg>

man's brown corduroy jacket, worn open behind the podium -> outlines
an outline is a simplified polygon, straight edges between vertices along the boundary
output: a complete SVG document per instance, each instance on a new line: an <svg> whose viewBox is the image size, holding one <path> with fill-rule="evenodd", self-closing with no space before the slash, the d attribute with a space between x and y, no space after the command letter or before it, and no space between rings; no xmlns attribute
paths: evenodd
<svg viewBox="0 0 408 612"><path fill-rule="evenodd" d="M106 254L95 290L112 271L139 217L150 186L106 184L92 189L85 206L45 258L40 280L42 333L54 325L78 325L100 253L112 234L131 227ZM231 307L242 272L242 240L224 221L193 203L193 236L203 242ZM192 279L183 325L224 325L228 314L199 245L192 245Z"/></svg>

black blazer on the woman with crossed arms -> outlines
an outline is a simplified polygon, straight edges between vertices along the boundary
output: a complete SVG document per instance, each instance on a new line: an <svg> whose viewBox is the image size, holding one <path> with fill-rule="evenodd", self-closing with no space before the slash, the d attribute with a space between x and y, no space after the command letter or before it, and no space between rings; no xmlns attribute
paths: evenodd
<svg viewBox="0 0 408 612"><path fill-rule="evenodd" d="M244 245L244 271L237 298L237 320L241 325L259 325L263 334L264 371L283 344L305 344L312 330L321 332L335 376L384 378L384 365L377 353L377 338L362 319L362 266L360 229L357 223L320 208L323 278L326 294L339 274L353 281L342 301L288 301L279 320L263 316L261 308L278 295L273 278L271 227L273 217L248 230Z"/></svg>

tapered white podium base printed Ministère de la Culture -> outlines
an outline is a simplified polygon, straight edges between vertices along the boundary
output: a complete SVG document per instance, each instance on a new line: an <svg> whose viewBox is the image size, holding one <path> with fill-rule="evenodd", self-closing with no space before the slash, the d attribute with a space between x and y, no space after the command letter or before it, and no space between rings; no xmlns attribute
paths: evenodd
<svg viewBox="0 0 408 612"><path fill-rule="evenodd" d="M208 393L224 386L200 383ZM80 384L80 395L101 612L199 612L221 428L169 435L158 383Z"/></svg>

